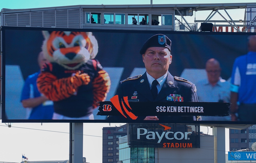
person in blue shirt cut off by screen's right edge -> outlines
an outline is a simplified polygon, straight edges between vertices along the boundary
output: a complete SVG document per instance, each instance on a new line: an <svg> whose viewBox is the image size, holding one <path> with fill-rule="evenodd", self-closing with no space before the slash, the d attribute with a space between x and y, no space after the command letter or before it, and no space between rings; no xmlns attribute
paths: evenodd
<svg viewBox="0 0 256 163"><path fill-rule="evenodd" d="M256 36L248 40L248 53L236 58L230 87L232 121L255 122L256 118Z"/></svg>

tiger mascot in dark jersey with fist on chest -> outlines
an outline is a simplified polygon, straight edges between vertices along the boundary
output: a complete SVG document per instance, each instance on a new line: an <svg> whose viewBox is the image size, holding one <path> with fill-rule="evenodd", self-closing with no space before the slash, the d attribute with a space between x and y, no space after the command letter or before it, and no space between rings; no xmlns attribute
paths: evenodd
<svg viewBox="0 0 256 163"><path fill-rule="evenodd" d="M94 60L97 40L91 32L42 33L42 51L50 63L39 74L37 87L54 101L53 119L93 119L93 109L110 89L108 73Z"/></svg>

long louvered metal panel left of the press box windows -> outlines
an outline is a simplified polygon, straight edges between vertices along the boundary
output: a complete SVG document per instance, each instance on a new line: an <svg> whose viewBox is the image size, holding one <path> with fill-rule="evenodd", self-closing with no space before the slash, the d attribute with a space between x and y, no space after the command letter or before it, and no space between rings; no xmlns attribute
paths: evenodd
<svg viewBox="0 0 256 163"><path fill-rule="evenodd" d="M2 15L3 26L82 28L82 8Z"/></svg>

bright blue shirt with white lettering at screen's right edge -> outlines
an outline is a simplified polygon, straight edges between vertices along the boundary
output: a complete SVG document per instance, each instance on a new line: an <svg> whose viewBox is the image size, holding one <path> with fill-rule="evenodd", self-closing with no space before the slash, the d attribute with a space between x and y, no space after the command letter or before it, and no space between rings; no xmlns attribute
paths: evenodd
<svg viewBox="0 0 256 163"><path fill-rule="evenodd" d="M238 93L238 102L256 103L256 52L237 57L233 65L231 84L238 86L238 89L231 87L231 91Z"/></svg>

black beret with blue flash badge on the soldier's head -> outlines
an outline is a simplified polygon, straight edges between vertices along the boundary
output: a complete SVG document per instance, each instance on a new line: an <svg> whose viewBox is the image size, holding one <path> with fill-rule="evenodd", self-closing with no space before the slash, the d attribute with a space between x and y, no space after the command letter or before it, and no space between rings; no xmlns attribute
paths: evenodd
<svg viewBox="0 0 256 163"><path fill-rule="evenodd" d="M164 34L156 34L149 38L141 47L140 54L144 54L147 48L164 47L171 51L172 41Z"/></svg>

